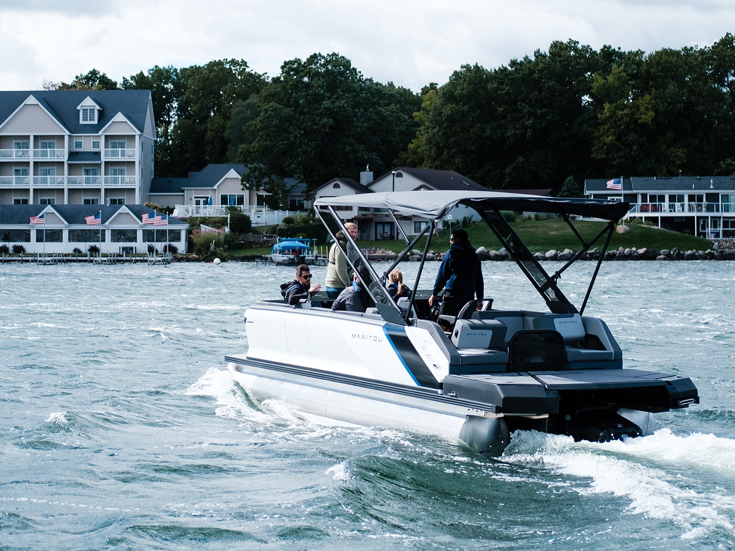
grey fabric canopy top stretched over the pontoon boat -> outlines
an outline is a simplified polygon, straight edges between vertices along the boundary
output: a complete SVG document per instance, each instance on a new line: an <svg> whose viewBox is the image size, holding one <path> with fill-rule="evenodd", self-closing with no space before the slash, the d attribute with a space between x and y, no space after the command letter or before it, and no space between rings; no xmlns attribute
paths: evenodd
<svg viewBox="0 0 735 551"><path fill-rule="evenodd" d="M327 206L362 206L390 209L403 215L441 220L457 204L477 211L512 210L519 212L548 212L558 215L584 216L617 222L628 213L630 205L623 201L542 197L497 191L396 191L361 193L341 197L323 197L315 201L315 208Z"/></svg>

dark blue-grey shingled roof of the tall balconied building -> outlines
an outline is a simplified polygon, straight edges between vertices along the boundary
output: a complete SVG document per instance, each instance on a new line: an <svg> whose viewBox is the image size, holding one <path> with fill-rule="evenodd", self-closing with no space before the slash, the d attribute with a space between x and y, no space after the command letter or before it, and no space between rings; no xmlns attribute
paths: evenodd
<svg viewBox="0 0 735 551"><path fill-rule="evenodd" d="M95 134L122 113L137 129L146 128L150 90L26 90L0 91L0 123L7 120L29 96L56 118L71 134ZM101 112L96 124L79 123L76 109L87 96Z"/></svg>

